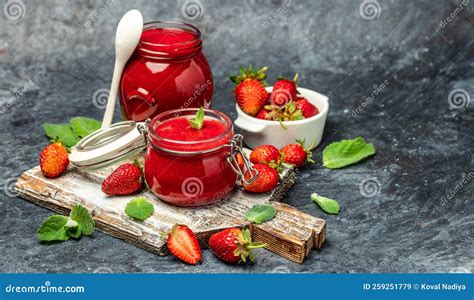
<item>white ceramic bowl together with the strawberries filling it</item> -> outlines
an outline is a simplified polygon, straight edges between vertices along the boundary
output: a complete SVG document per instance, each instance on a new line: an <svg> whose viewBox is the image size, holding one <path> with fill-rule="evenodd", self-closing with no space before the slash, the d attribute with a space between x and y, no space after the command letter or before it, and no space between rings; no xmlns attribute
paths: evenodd
<svg viewBox="0 0 474 300"><path fill-rule="evenodd" d="M230 77L236 84L234 124L241 129L245 144L252 149L262 144L282 148L302 140L306 148L317 146L326 124L328 97L299 87L298 74L264 87L267 71L267 67L241 68L240 75Z"/></svg>

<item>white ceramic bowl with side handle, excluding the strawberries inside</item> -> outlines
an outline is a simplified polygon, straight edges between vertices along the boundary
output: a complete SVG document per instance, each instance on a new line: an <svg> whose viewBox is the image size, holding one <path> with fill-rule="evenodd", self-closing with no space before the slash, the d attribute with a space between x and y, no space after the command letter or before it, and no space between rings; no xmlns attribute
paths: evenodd
<svg viewBox="0 0 474 300"><path fill-rule="evenodd" d="M271 92L273 88L266 89ZM249 116L240 109L238 104L235 105L237 120L234 124L242 129L247 146L253 149L258 145L270 144L281 148L295 143L296 139L304 139L306 147L312 143L317 146L321 142L329 110L328 97L302 87L298 87L298 91L301 96L318 108L319 114L304 120L285 121L283 124L286 129L282 128L278 121L261 120Z"/></svg>

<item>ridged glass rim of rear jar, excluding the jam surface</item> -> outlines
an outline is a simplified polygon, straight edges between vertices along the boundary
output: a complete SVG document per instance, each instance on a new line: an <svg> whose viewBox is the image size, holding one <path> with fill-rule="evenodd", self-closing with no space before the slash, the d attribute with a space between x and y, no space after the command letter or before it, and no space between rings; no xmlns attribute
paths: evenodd
<svg viewBox="0 0 474 300"><path fill-rule="evenodd" d="M170 49L175 47L175 51L184 51L186 55L197 51L200 49L202 45L201 41L201 31L194 25L184 22L178 21L152 21L147 22L143 25L143 32L150 30L150 29L160 29L160 28L169 28L169 29L181 29L186 32L189 32L193 35L193 38L186 41L180 42L171 42L171 43L153 43L153 42L145 42L140 38L138 42L137 50L142 52L144 55L150 56L159 56L159 57L168 57L172 55L171 53L167 53L166 49ZM179 49L179 50L178 50ZM175 55L179 55L179 53L174 53Z"/></svg>

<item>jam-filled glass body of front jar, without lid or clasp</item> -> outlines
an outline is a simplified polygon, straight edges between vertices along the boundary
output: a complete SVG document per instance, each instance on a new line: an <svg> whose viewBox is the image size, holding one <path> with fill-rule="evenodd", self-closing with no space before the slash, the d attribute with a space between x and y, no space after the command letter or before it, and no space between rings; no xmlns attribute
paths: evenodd
<svg viewBox="0 0 474 300"><path fill-rule="evenodd" d="M226 115L205 111L201 129L188 119L197 109L168 111L149 125L145 155L145 179L163 201L179 206L198 206L224 198L237 175L227 162L232 121Z"/></svg>

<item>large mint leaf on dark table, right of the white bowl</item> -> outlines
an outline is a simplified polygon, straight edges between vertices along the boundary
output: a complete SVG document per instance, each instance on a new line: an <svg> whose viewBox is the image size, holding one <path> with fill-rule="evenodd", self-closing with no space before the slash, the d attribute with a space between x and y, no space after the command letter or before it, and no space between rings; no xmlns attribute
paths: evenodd
<svg viewBox="0 0 474 300"><path fill-rule="evenodd" d="M374 154L374 145L366 143L362 137L342 140L331 143L324 149L323 166L329 169L339 169Z"/></svg>

